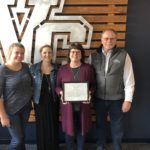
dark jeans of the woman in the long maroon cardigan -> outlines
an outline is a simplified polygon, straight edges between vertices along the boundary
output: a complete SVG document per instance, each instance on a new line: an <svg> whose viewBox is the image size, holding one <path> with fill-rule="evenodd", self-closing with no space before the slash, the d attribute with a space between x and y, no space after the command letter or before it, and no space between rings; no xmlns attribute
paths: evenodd
<svg viewBox="0 0 150 150"><path fill-rule="evenodd" d="M76 140L76 143L77 143L77 150L83 150L84 149L85 136L81 135L80 111L74 111L73 117L74 117L75 136L70 136L68 134L65 134L67 150L74 150L74 140Z"/></svg>

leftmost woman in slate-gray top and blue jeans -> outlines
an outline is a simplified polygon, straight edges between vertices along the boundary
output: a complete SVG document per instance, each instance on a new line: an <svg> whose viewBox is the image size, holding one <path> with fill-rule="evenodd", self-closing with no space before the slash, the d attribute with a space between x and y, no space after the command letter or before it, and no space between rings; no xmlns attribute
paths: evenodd
<svg viewBox="0 0 150 150"><path fill-rule="evenodd" d="M0 120L11 135L10 150L25 150L25 126L32 97L32 77L28 65L22 63L25 48L13 43L8 61L0 66Z"/></svg>

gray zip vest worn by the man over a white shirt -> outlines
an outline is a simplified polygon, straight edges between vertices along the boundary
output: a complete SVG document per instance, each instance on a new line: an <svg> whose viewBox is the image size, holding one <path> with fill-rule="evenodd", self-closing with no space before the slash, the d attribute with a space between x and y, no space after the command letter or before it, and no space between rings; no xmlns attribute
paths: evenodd
<svg viewBox="0 0 150 150"><path fill-rule="evenodd" d="M91 63L96 71L97 98L119 100L124 98L123 72L127 52L115 48L110 56L108 71L105 74L105 56L99 49L91 55Z"/></svg>

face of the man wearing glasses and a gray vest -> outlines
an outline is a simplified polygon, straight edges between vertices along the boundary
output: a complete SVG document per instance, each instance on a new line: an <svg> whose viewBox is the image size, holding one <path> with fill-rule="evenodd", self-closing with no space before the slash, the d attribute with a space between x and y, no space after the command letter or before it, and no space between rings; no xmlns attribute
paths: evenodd
<svg viewBox="0 0 150 150"><path fill-rule="evenodd" d="M108 52L115 47L117 42L117 35L115 32L108 30L102 33L101 43L105 52Z"/></svg>

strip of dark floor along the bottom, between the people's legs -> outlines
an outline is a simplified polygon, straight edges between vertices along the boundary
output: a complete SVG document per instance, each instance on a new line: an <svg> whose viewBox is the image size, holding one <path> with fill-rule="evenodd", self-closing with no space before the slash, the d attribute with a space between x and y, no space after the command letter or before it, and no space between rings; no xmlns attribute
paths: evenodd
<svg viewBox="0 0 150 150"><path fill-rule="evenodd" d="M150 150L149 143L123 143L122 150ZM37 150L36 145L26 145L26 150ZM0 145L0 150L8 150L8 145ZM60 150L66 150L65 145L60 145ZM85 150L96 150L95 144L86 144ZM112 150L111 144L107 145L106 150Z"/></svg>

